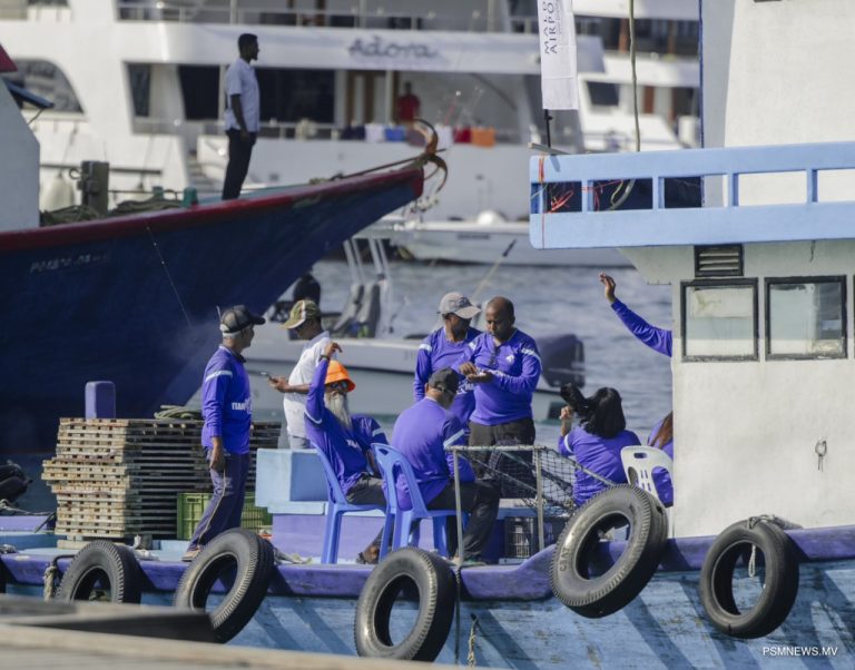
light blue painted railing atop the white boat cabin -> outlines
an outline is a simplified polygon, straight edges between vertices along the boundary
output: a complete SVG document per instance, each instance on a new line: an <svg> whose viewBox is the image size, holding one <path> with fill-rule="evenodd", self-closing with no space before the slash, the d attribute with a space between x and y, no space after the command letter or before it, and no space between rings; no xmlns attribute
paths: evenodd
<svg viewBox="0 0 855 670"><path fill-rule="evenodd" d="M833 200L819 197L818 176L826 170L851 170L844 178L849 189L841 193L835 181ZM793 204L787 193L783 199L789 201L740 203L741 176L779 173L805 176L804 201ZM694 180L698 190L697 178L708 177L724 177L724 206L666 207L666 184L670 189ZM633 179L627 205L636 208L608 210L609 203L600 201L603 193ZM855 142L533 157L530 183L534 248L855 238Z"/></svg>

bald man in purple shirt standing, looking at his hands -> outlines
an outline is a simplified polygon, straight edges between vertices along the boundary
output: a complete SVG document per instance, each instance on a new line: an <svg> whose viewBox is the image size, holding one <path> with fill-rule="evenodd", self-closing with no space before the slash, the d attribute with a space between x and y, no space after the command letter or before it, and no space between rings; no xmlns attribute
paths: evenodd
<svg viewBox="0 0 855 670"><path fill-rule="evenodd" d="M532 337L513 326L513 303L497 296L487 304L487 333L466 345L466 351L454 368L475 385L475 410L469 422L470 445L512 445L534 443L534 420L531 398L540 378L541 362L538 345ZM509 452L507 459L492 454L491 467L511 471L514 479L525 484L533 482L531 452ZM523 461L522 469L513 461ZM502 494L514 497L523 494L517 486L502 486Z"/></svg>

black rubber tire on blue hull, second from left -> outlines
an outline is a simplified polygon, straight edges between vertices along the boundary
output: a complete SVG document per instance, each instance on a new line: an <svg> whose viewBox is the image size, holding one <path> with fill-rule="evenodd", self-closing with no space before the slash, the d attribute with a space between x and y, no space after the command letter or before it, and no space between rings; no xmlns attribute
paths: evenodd
<svg viewBox="0 0 855 670"><path fill-rule="evenodd" d="M239 633L262 604L275 568L273 545L245 529L228 530L198 553L175 590L175 607L204 610L220 573L235 564L234 584L210 612L218 642L228 642Z"/></svg>

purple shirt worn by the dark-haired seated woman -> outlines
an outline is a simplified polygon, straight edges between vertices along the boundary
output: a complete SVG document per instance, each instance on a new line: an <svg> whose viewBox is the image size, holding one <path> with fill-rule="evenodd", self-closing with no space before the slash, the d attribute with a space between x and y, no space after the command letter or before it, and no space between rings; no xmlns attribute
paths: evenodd
<svg viewBox="0 0 855 670"><path fill-rule="evenodd" d="M582 466L601 477L611 480L616 484L626 484L627 475L620 461L620 450L637 444L641 443L632 431L622 431L615 437L600 437L581 426L576 426L567 435L558 439L558 451L564 456L573 456ZM599 480L581 470L576 471L573 499L577 505L584 504L603 489L606 484Z"/></svg>

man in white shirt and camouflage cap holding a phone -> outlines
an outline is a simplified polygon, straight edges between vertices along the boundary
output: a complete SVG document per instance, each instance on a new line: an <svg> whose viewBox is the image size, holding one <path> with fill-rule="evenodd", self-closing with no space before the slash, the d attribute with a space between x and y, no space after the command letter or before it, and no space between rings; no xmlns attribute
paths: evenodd
<svg viewBox="0 0 855 670"><path fill-rule="evenodd" d="M267 383L285 394L282 407L285 412L288 445L291 449L312 446L306 436L306 394L315 374L317 362L330 344L330 333L321 326L321 309L313 300L297 300L291 309L291 316L283 325L307 342L303 345L299 359L291 371L287 382L283 377L271 377Z"/></svg>

